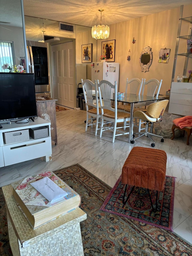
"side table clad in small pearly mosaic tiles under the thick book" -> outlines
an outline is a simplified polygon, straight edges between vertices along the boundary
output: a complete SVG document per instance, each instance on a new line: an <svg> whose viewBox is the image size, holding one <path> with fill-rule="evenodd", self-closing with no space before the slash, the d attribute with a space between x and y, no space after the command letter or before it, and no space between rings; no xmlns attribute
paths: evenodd
<svg viewBox="0 0 192 256"><path fill-rule="evenodd" d="M13 256L83 256L79 222L86 213L79 207L33 229L13 198L11 185L2 187Z"/></svg>

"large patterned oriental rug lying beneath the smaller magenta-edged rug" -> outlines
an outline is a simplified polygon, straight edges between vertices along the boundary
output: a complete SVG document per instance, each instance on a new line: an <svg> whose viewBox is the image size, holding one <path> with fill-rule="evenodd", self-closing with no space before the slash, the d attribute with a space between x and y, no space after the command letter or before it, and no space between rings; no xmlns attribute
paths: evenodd
<svg viewBox="0 0 192 256"><path fill-rule="evenodd" d="M85 256L191 256L192 247L174 232L100 210L111 187L79 164L54 172L81 195ZM11 256L5 202L0 189L0 255ZM64 256L64 255L63 255Z"/></svg>

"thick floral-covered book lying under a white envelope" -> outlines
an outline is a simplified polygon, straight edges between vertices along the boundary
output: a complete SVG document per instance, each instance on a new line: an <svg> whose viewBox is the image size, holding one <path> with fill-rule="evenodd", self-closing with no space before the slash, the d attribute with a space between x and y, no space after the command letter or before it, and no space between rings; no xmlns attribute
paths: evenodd
<svg viewBox="0 0 192 256"><path fill-rule="evenodd" d="M56 201L49 202L31 185L32 182L44 177L51 179L63 189L66 195ZM34 229L76 209L81 203L80 195L51 171L26 177L23 180L11 183L11 185L13 187L13 197Z"/></svg>

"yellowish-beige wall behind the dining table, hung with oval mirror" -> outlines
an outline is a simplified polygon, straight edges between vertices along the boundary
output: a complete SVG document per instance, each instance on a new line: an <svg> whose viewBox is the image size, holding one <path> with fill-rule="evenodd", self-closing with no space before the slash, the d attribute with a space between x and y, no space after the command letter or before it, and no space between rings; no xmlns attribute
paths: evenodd
<svg viewBox="0 0 192 256"><path fill-rule="evenodd" d="M92 43L93 61L99 61L101 42L115 39L115 62L120 63L119 91L125 91L127 77L128 79L137 77L140 79L145 78L146 80L156 78L163 80L160 94L165 94L171 87L179 12L180 8L176 8L112 24L110 25L110 37L106 40L93 39L91 29L90 31L79 33L79 35L76 35L76 63L81 63L82 44ZM190 16L192 16L192 5L184 6L183 17ZM136 40L135 44L132 44L133 37ZM153 60L149 71L144 73L141 71L139 59L143 47L146 45L151 47ZM170 59L168 63L158 63L159 51L165 47L171 49ZM131 50L131 61L127 60L129 49ZM178 59L178 62L180 62L179 71L182 74L182 59ZM177 70L177 72L179 71Z"/></svg>

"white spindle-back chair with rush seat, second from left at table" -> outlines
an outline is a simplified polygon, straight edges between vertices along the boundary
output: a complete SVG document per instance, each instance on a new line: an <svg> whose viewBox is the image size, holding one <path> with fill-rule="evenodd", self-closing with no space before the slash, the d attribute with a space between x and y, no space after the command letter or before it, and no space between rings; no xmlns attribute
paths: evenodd
<svg viewBox="0 0 192 256"><path fill-rule="evenodd" d="M117 82L115 81L115 85L106 80L101 80L98 82L98 91L99 98L101 103L101 130L100 130L100 138L102 136L102 132L106 130L113 131L113 139L112 142L115 141L116 136L129 134L129 132L122 131L124 127L124 123L130 121L130 114L125 112L117 111ZM115 90L115 100L114 107L111 104L112 97L112 89ZM108 122L107 125L104 125L104 122ZM117 123L123 122L123 126L118 126ZM129 127L129 124L126 125L126 128Z"/></svg>

